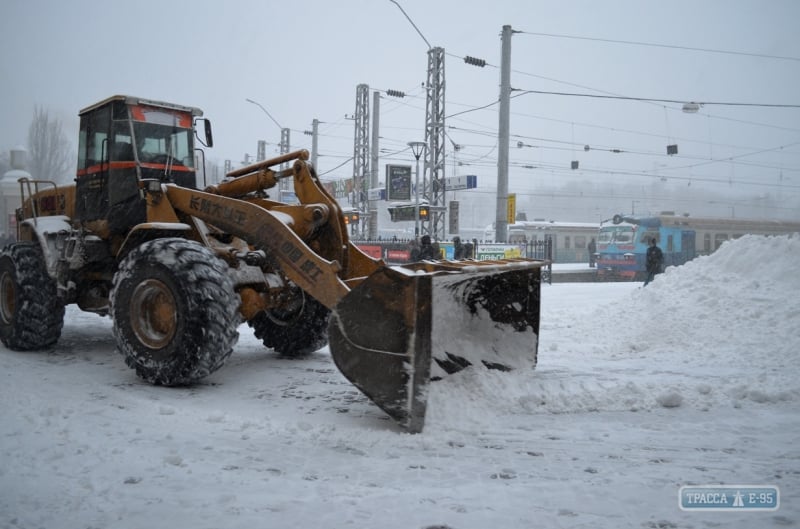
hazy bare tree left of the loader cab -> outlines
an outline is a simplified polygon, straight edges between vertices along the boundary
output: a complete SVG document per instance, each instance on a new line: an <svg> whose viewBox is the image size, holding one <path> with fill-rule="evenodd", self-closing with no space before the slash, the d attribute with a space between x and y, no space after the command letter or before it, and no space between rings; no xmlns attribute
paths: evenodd
<svg viewBox="0 0 800 529"><path fill-rule="evenodd" d="M34 178L56 183L69 179L73 167L72 144L59 119L51 119L40 107L33 110L28 129L28 172Z"/></svg>

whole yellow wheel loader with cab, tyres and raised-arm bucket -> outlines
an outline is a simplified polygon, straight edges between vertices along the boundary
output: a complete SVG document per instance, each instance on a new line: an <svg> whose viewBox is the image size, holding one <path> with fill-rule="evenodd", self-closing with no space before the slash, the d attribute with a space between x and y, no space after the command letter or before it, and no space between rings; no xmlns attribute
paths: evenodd
<svg viewBox="0 0 800 529"><path fill-rule="evenodd" d="M411 432L432 380L535 366L541 261L387 266L349 241L307 151L198 186L195 140L212 146L199 109L114 96L79 115L74 185L20 180L17 242L0 252L9 349L54 346L77 304L111 317L139 377L186 385L224 364L247 322L281 355L328 345ZM299 204L270 197L283 179Z"/></svg>

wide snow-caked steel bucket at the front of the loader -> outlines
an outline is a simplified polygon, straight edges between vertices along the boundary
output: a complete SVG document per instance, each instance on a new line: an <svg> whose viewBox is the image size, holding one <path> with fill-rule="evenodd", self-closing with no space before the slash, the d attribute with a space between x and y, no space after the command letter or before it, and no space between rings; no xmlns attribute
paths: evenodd
<svg viewBox="0 0 800 529"><path fill-rule="evenodd" d="M334 308L339 370L412 433L432 380L465 368L533 369L541 261L381 267Z"/></svg>

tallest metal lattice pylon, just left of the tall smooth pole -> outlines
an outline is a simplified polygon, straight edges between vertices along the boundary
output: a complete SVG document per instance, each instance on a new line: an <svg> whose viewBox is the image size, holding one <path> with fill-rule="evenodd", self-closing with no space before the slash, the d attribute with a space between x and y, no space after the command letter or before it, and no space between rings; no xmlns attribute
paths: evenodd
<svg viewBox="0 0 800 529"><path fill-rule="evenodd" d="M427 100L425 104L425 170L424 196L431 206L430 220L422 223L422 233L435 240L445 239L444 167L444 48L428 50ZM441 208L441 209L440 209Z"/></svg>

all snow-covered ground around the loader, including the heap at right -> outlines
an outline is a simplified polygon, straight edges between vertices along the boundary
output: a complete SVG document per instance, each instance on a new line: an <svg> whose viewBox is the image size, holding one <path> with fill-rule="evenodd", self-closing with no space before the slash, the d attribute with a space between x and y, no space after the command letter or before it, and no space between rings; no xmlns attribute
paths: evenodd
<svg viewBox="0 0 800 529"><path fill-rule="evenodd" d="M409 434L323 349L246 325L190 388L150 386L111 321L68 307L0 347L0 527L800 527L800 236L745 236L640 283L542 285L535 370L430 385ZM696 512L688 485L780 490Z"/></svg>

